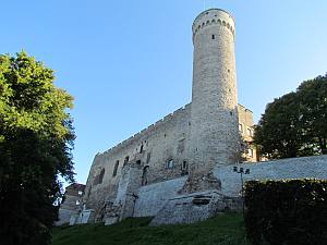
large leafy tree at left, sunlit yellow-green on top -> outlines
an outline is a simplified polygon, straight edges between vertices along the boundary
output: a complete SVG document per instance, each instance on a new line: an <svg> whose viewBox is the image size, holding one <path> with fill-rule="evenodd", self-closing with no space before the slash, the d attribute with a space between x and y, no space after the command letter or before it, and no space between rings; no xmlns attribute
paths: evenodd
<svg viewBox="0 0 327 245"><path fill-rule="evenodd" d="M45 245L58 216L59 175L73 181L73 98L24 51L0 56L0 241Z"/></svg>

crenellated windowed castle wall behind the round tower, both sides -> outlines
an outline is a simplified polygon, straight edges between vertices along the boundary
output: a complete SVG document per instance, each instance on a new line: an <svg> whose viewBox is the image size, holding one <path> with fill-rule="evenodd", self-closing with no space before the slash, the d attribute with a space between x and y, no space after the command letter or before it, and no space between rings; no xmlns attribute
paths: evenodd
<svg viewBox="0 0 327 245"><path fill-rule="evenodd" d="M252 112L241 105L239 111L241 112L239 121L243 123L244 128L251 130ZM87 207L100 209L105 200L116 197L126 157L129 162L125 162L125 166L137 164L137 161L141 161L142 169L148 166L144 185L187 174L190 157L186 147L190 143L190 117L191 105L189 103L116 147L98 154L86 183L84 203ZM140 152L142 145L143 151ZM173 161L172 168L168 166L170 160ZM117 175L113 176L117 161L119 161ZM99 183L101 171L105 174Z"/></svg>

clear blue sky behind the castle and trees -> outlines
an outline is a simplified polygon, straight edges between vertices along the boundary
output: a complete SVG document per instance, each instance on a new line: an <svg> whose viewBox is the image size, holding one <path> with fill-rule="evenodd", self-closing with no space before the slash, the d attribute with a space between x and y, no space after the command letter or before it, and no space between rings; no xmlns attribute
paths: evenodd
<svg viewBox="0 0 327 245"><path fill-rule="evenodd" d="M237 21L239 102L267 102L327 72L327 1L207 0ZM1 3L0 53L21 49L56 70L75 98L76 180L94 156L191 100L192 32L202 0Z"/></svg>

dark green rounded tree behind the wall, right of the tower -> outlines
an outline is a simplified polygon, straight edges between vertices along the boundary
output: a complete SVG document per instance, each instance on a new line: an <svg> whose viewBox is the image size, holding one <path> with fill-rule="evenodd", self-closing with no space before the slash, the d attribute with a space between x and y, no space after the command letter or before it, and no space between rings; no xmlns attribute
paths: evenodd
<svg viewBox="0 0 327 245"><path fill-rule="evenodd" d="M268 103L254 142L272 159L327 154L327 75Z"/></svg>

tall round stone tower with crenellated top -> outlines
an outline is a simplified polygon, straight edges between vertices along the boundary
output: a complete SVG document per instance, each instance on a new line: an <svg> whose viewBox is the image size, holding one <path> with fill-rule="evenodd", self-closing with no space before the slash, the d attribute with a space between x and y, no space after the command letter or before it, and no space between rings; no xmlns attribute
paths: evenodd
<svg viewBox="0 0 327 245"><path fill-rule="evenodd" d="M195 19L192 30L191 171L206 174L215 166L235 162L239 138L235 24L228 12L210 9Z"/></svg>

